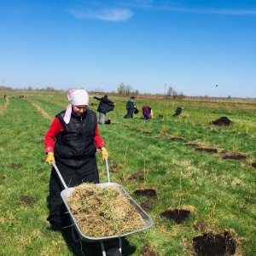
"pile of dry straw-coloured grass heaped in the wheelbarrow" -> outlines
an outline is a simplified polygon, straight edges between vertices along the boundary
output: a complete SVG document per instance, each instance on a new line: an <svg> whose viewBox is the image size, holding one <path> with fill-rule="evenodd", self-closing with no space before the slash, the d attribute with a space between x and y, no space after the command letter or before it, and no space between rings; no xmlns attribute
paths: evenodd
<svg viewBox="0 0 256 256"><path fill-rule="evenodd" d="M120 236L146 226L123 191L114 186L83 183L73 190L67 204L84 236Z"/></svg>

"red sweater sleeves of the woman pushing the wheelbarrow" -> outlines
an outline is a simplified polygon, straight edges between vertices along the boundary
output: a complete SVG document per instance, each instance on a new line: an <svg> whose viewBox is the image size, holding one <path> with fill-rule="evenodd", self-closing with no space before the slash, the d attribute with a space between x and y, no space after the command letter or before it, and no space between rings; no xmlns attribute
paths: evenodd
<svg viewBox="0 0 256 256"><path fill-rule="evenodd" d="M63 131L63 126L61 125L60 119L56 118L53 120L52 124L49 126L49 130L46 132L44 137L45 153L54 152L55 149L55 140L58 136L59 132ZM95 132L94 132L94 143L97 148L101 148L104 146L102 141L102 137L98 131L98 125L96 124Z"/></svg>

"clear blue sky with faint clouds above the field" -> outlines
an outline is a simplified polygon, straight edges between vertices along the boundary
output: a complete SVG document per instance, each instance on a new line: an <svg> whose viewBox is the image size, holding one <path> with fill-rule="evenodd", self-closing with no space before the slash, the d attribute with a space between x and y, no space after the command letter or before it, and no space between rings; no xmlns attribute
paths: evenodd
<svg viewBox="0 0 256 256"><path fill-rule="evenodd" d="M256 1L0 0L0 82L256 97Z"/></svg>

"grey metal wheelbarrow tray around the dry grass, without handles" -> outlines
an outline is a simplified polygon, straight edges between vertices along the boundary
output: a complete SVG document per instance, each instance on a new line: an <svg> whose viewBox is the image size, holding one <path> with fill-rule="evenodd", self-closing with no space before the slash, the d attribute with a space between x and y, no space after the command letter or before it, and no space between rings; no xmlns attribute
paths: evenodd
<svg viewBox="0 0 256 256"><path fill-rule="evenodd" d="M70 207L68 206L67 204L67 198L72 194L73 190L75 188L67 188L67 189L63 189L61 191L61 198L62 200L64 201L64 204L65 206L67 207L67 211L69 212L70 214L70 218L73 222L73 226L75 228L75 230L77 231L78 233L78 236L79 236L79 239L80 240L83 240L83 241L88 241L88 242L95 242L95 241L108 241L108 240L111 240L111 239L115 239L115 238L120 238L120 237L123 237L123 236L128 236L128 235L131 235L131 234L134 234L134 233L137 233L137 232L140 232L140 231L143 231L143 230L148 230L152 224L153 224L153 220L152 218L150 218L147 214L147 212L145 212L143 210L142 207L140 207L136 201L134 201L131 196L125 191L125 189L122 188L122 186L119 184L119 183L98 183L97 184L98 186L101 186L102 188L108 188L110 186L112 187L115 187L117 189L120 189L125 197L130 201L131 205L133 207L135 207L135 209L137 210L137 212L139 212L142 216L142 218L144 219L145 221L145 227L143 227L143 229L140 229L140 230L134 230L134 231L131 231L131 232L127 232L127 233L124 233L124 234L121 234L119 236L104 236L104 237L91 237L91 236L86 236L86 234L83 234L82 231L80 230L79 228L79 224L77 223L76 219L73 217L73 213L72 211L70 210Z"/></svg>

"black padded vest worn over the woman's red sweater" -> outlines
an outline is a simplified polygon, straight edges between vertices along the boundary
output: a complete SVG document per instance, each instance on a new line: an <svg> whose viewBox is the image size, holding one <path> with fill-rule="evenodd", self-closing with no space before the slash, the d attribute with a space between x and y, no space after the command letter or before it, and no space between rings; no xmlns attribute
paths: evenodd
<svg viewBox="0 0 256 256"><path fill-rule="evenodd" d="M86 160L95 157L94 134L96 113L87 109L82 116L71 114L68 124L64 121L65 111L56 115L64 130L55 141L55 158L67 166L82 166Z"/></svg>

